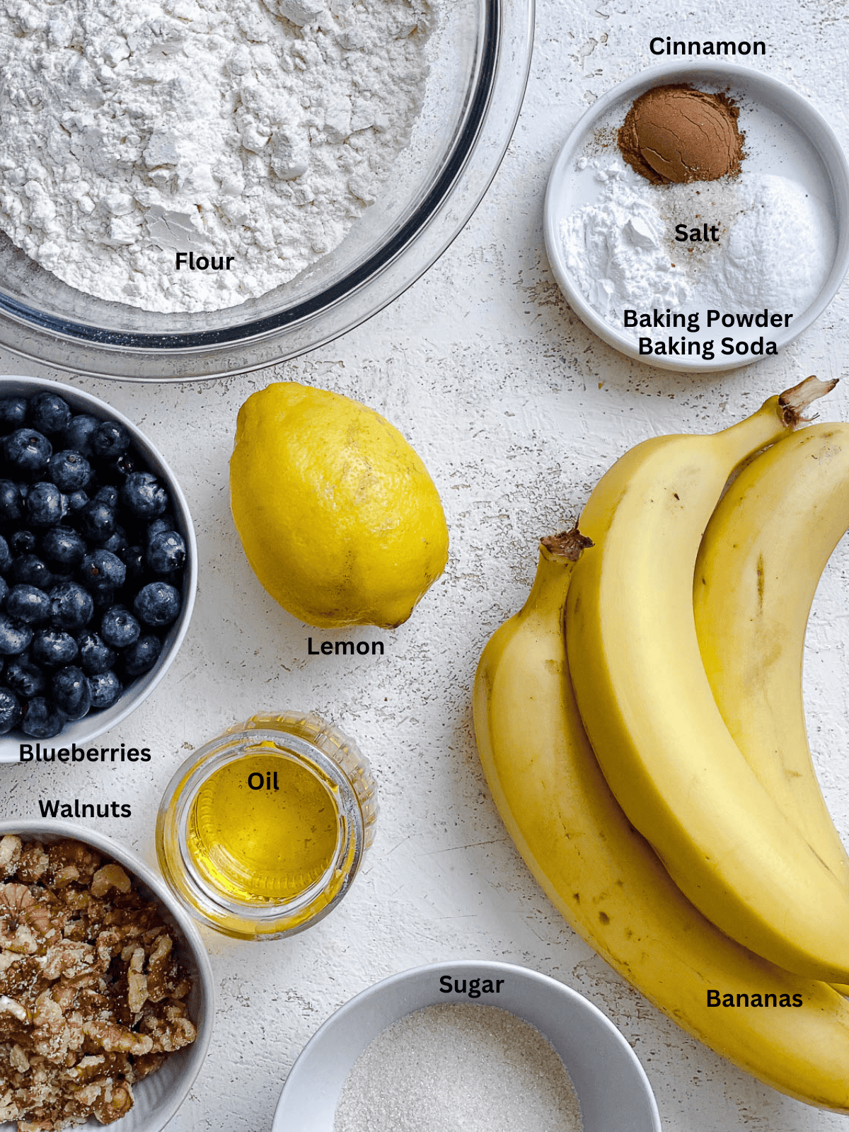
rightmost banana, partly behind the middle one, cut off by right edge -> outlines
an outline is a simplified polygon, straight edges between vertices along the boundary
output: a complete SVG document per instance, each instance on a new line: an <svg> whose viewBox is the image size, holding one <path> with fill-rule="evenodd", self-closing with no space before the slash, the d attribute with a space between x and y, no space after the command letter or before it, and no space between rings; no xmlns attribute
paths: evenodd
<svg viewBox="0 0 849 1132"><path fill-rule="evenodd" d="M849 528L849 426L813 424L756 456L711 516L693 609L722 719L764 789L849 889L816 780L801 662L820 575Z"/></svg>

